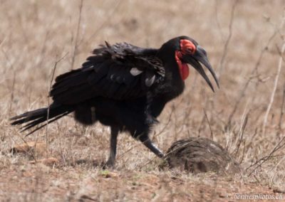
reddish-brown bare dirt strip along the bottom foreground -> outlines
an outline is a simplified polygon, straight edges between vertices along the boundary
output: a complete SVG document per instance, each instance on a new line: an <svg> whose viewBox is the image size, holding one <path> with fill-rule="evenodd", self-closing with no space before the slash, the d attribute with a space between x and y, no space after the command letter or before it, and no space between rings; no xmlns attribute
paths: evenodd
<svg viewBox="0 0 285 202"><path fill-rule="evenodd" d="M281 195L232 177L169 171L52 169L23 164L1 170L0 176L0 198L6 201L235 201L240 194Z"/></svg>

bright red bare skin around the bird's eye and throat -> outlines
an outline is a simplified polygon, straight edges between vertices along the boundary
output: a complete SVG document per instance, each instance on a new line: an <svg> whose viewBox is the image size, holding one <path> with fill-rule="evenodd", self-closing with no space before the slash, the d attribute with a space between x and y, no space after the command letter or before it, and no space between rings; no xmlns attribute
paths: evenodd
<svg viewBox="0 0 285 202"><path fill-rule="evenodd" d="M187 79L189 76L189 67L187 63L182 63L181 58L185 54L194 54L196 51L196 46L194 43L187 39L180 40L180 50L175 51L175 60L180 70L180 75L182 80Z"/></svg>

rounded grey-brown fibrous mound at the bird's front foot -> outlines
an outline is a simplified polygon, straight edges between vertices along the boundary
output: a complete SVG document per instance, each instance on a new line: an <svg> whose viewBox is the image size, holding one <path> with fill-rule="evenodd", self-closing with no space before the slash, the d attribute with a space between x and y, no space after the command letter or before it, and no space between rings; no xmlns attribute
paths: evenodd
<svg viewBox="0 0 285 202"><path fill-rule="evenodd" d="M240 174L239 163L217 142L202 137L190 137L174 142L165 156L170 169L217 174Z"/></svg>

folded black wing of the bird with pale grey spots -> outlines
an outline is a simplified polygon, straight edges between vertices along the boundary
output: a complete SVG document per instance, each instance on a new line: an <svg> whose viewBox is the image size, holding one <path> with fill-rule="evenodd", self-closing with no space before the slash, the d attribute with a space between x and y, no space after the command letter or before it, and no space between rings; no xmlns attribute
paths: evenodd
<svg viewBox="0 0 285 202"><path fill-rule="evenodd" d="M93 50L82 68L59 75L50 92L57 103L76 104L93 97L127 100L145 96L165 76L157 49L116 43Z"/></svg>

